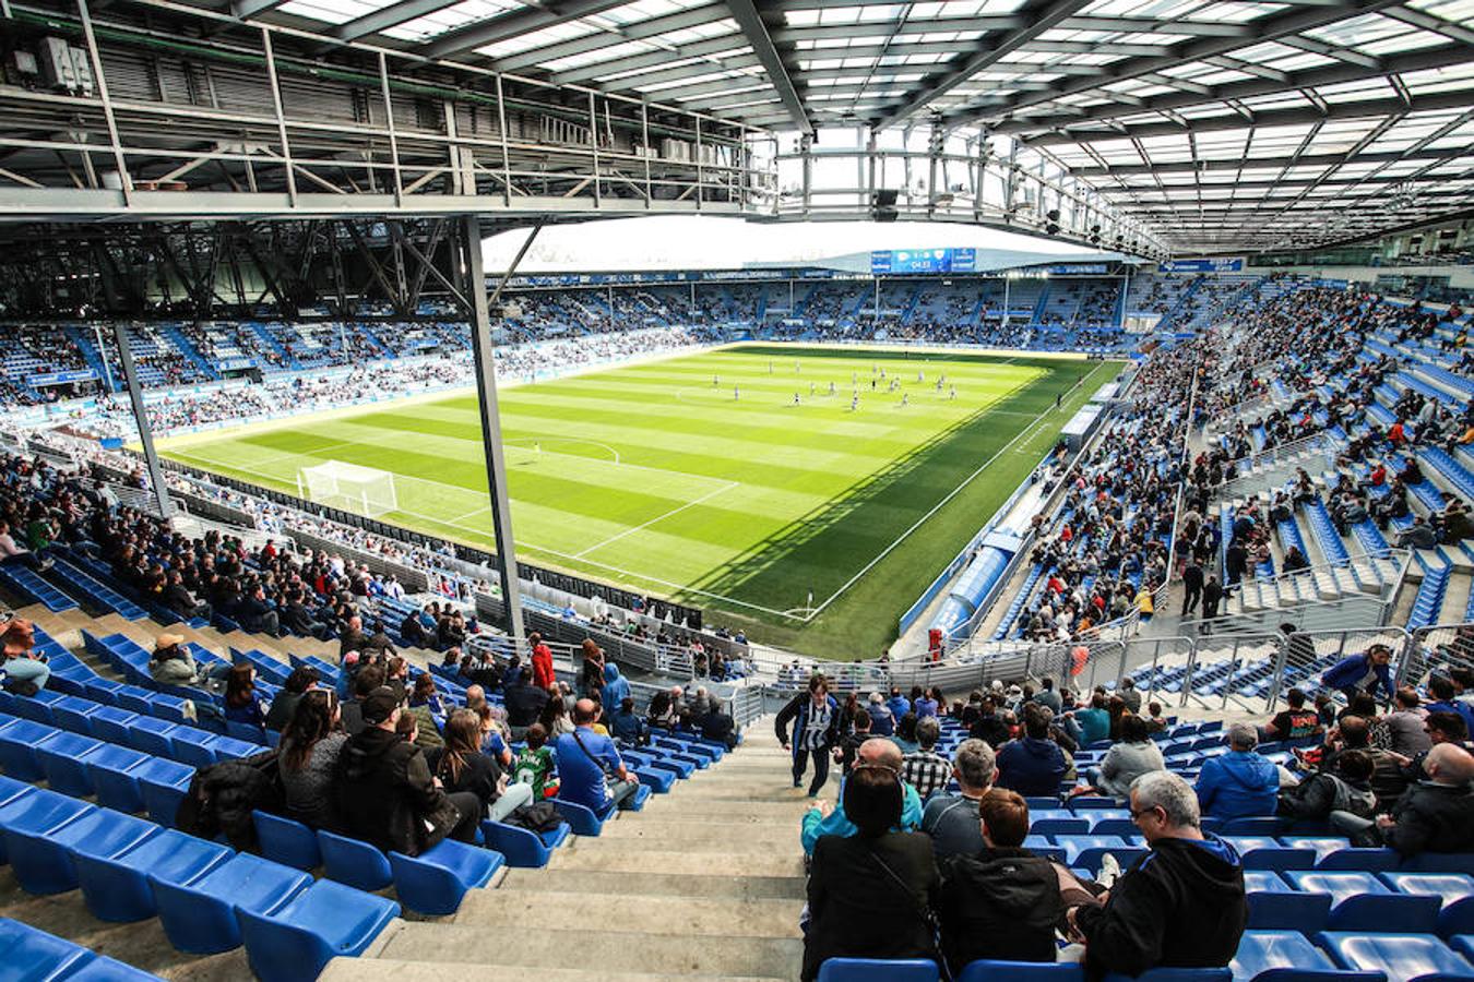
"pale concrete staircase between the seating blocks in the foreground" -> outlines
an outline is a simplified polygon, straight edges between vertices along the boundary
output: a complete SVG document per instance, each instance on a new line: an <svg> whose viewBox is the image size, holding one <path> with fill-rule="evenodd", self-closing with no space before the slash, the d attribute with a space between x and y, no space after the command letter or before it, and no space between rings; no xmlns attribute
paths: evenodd
<svg viewBox="0 0 1474 982"><path fill-rule="evenodd" d="M551 982L794 979L803 792L765 720L737 752L598 838L510 870L441 920L397 920L324 982L444 982L451 967ZM837 785L830 785L837 791Z"/></svg>

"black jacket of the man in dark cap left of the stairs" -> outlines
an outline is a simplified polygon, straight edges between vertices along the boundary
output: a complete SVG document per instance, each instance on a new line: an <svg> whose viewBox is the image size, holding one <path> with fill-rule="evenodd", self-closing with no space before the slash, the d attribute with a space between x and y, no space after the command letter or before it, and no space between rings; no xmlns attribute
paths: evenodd
<svg viewBox="0 0 1474 982"><path fill-rule="evenodd" d="M455 805L430 779L425 752L377 726L343 745L333 792L348 835L385 851L419 855L460 822Z"/></svg>

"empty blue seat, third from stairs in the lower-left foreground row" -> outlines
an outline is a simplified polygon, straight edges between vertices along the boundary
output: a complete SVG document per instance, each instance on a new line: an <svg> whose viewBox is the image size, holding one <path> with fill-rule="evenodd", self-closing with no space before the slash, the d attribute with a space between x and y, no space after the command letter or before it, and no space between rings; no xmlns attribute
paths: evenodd
<svg viewBox="0 0 1474 982"><path fill-rule="evenodd" d="M231 855L234 851L220 842L162 829L121 855L78 842L72 860L83 900L93 917L133 922L159 913L149 877L165 883L193 883Z"/></svg>

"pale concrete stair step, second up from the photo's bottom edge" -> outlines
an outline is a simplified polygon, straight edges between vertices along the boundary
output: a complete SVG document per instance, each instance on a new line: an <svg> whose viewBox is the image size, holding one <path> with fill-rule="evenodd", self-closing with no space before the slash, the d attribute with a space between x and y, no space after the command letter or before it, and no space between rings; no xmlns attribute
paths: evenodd
<svg viewBox="0 0 1474 982"><path fill-rule="evenodd" d="M624 898L609 901L610 905ZM559 925L562 926L562 923ZM529 925L528 930L503 930L488 939L483 926L398 922L398 930L380 947L379 957L402 961L444 961L457 964L525 966L541 970L572 951L582 953L590 964L606 973L644 972L659 967L666 976L688 973L793 978L803 957L803 942L796 938L688 938L657 933L593 930L590 923L569 923L576 929L562 938L554 926ZM392 928L391 928L392 930ZM386 932L388 933L388 932ZM442 976L444 978L444 976Z"/></svg>

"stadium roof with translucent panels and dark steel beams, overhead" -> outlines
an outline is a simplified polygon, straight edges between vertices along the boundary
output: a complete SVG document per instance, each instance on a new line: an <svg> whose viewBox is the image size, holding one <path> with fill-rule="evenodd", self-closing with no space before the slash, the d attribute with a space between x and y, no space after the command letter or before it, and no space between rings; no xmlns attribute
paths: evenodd
<svg viewBox="0 0 1474 982"><path fill-rule="evenodd" d="M775 130L980 125L1179 249L1344 240L1474 193L1474 0L228 6Z"/></svg>

